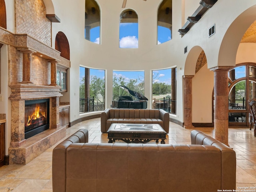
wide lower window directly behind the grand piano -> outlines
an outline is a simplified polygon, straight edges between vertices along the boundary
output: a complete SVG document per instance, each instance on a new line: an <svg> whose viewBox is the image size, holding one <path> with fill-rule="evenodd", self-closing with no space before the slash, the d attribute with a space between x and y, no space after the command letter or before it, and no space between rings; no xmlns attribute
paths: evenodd
<svg viewBox="0 0 256 192"><path fill-rule="evenodd" d="M144 71L114 71L113 100L120 97L120 85L144 95Z"/></svg>

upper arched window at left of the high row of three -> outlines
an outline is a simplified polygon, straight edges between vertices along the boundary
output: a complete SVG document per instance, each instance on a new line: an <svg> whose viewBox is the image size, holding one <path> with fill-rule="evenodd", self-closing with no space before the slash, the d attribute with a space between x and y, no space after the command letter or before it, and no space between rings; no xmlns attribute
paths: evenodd
<svg viewBox="0 0 256 192"><path fill-rule="evenodd" d="M95 0L85 1L84 37L100 44L100 8Z"/></svg>

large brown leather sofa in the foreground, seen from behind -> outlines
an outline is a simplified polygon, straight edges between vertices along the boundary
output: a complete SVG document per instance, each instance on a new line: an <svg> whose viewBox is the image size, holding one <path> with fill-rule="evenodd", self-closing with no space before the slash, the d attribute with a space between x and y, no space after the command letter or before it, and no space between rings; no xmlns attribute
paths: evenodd
<svg viewBox="0 0 256 192"><path fill-rule="evenodd" d="M236 189L236 154L193 130L191 145L85 143L81 129L53 150L53 192L216 192Z"/></svg>

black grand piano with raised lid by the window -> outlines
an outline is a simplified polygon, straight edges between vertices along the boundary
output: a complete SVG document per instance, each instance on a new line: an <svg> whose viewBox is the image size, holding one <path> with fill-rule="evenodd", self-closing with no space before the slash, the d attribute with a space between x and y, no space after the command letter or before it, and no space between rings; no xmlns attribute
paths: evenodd
<svg viewBox="0 0 256 192"><path fill-rule="evenodd" d="M148 107L148 99L126 86L120 85L122 93L118 101L112 101L112 108L126 108L126 109L146 109Z"/></svg>

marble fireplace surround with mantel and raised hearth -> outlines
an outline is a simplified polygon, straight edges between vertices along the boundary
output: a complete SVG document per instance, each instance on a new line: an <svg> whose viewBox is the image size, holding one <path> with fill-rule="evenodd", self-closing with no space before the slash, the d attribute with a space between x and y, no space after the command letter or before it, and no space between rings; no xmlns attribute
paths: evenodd
<svg viewBox="0 0 256 192"><path fill-rule="evenodd" d="M11 142L8 150L9 164L27 164L66 136L66 127L59 125L59 86L18 84L10 86ZM50 128L25 139L25 100L50 99Z"/></svg>

